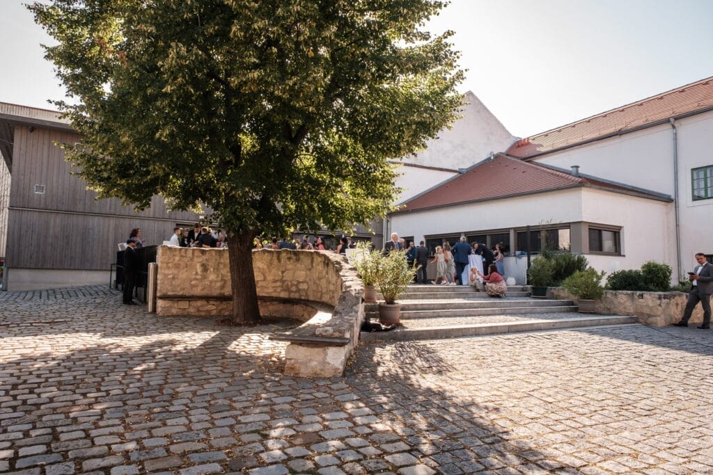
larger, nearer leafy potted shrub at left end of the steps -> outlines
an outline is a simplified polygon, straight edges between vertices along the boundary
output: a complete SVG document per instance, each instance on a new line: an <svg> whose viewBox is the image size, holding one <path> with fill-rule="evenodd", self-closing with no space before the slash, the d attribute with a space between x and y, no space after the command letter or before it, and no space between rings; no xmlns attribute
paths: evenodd
<svg viewBox="0 0 713 475"><path fill-rule="evenodd" d="M406 262L405 251L391 251L382 257L376 283L384 296L384 303L379 303L379 321L384 325L399 323L401 304L396 303L396 299L414 281L416 269L416 266L409 266Z"/></svg>

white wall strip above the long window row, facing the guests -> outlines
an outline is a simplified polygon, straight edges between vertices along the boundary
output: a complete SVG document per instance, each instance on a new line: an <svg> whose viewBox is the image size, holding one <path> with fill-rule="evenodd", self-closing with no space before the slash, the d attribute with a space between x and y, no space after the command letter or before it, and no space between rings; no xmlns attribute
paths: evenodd
<svg viewBox="0 0 713 475"><path fill-rule="evenodd" d="M389 220L389 232L384 231L384 235L397 232L401 236L414 236L416 242L434 234L509 229L547 221L551 224L581 221L582 189L394 214Z"/></svg>

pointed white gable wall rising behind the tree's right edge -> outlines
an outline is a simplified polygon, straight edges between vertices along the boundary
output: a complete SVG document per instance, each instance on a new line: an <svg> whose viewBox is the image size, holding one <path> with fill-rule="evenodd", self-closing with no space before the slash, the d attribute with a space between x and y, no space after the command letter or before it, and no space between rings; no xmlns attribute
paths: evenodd
<svg viewBox="0 0 713 475"><path fill-rule="evenodd" d="M404 158L416 165L443 168L468 168L486 159L490 152L501 152L513 145L515 137L471 91L466 93L463 116L450 130L444 129L429 141L426 150Z"/></svg>

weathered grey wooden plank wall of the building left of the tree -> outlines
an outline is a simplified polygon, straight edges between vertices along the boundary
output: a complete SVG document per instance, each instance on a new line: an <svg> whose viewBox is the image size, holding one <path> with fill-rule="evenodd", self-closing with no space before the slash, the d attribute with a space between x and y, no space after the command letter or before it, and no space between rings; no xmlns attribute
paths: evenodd
<svg viewBox="0 0 713 475"><path fill-rule="evenodd" d="M158 196L141 213L118 199L96 201L53 144L78 140L71 132L15 127L8 267L108 270L131 229L141 228L146 244L161 244L177 223L197 220L192 212L167 212ZM35 193L36 184L44 185L44 194Z"/></svg>

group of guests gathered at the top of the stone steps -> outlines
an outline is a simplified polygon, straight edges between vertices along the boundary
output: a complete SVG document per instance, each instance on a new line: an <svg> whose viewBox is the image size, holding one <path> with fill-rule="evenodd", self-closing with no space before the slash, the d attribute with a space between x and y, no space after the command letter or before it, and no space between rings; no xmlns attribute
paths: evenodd
<svg viewBox="0 0 713 475"><path fill-rule="evenodd" d="M384 252L406 251L406 260L410 266L417 265L416 283L429 283L426 268L429 265L429 249L424 241L416 246L413 241L399 239L399 234L392 233L391 240L384 244ZM477 256L471 259L471 256ZM434 283L442 286L473 286L484 290L489 296L504 297L508 290L505 281L505 266L503 259L503 245L496 244L495 249L488 249L485 243L473 242L468 244L466 236L461 236L460 241L451 247L443 242L443 246L436 246L431 264L436 266L436 279ZM470 267L469 271L466 271ZM483 271L484 269L484 271Z"/></svg>

